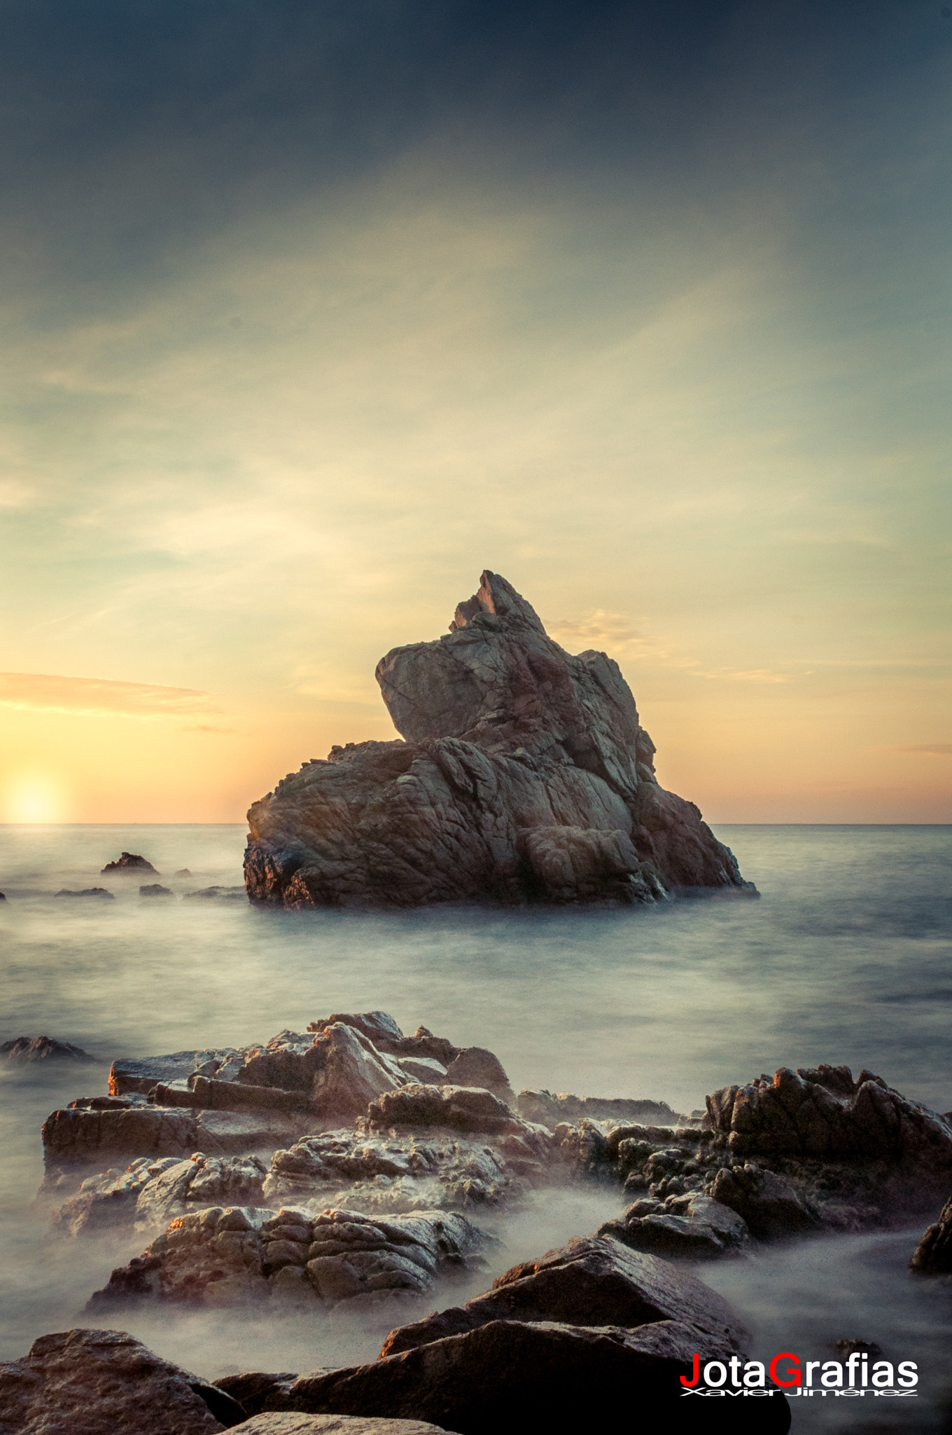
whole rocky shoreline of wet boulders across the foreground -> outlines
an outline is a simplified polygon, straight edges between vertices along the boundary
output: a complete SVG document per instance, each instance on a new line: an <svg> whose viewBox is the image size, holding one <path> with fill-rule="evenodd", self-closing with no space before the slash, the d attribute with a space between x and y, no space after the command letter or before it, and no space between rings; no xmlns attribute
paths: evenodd
<svg viewBox="0 0 952 1435"><path fill-rule="evenodd" d="M615 1388L665 1402L695 1353L746 1359L747 1335L698 1263L887 1230L932 1214L952 1185L949 1118L869 1072L780 1069L685 1116L651 1099L515 1095L492 1052L424 1027L404 1036L383 1012L118 1059L109 1092L52 1112L43 1142L53 1240L145 1243L89 1293L90 1325L142 1306L300 1319L373 1306L393 1329L368 1365L215 1386L115 1330L43 1336L0 1368L3 1435L53 1429L50 1392L66 1409L73 1386L85 1405L62 1428L76 1435L168 1431L159 1388L178 1392L176 1435L350 1429L331 1418L381 1435L407 1421L457 1435L575 1429L594 1382L609 1403ZM499 1269L487 1218L566 1184L604 1191L608 1218L453 1303L454 1283ZM949 1269L949 1228L946 1207L915 1270ZM434 1296L437 1310L422 1310ZM112 1393L96 1415L97 1380ZM780 1391L756 1418L753 1403L733 1429L786 1428Z"/></svg>

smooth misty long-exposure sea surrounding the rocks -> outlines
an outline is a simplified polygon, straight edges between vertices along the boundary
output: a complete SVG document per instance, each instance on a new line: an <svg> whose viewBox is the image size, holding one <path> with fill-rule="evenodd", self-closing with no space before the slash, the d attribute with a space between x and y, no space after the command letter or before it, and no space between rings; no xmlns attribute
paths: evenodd
<svg viewBox="0 0 952 1435"><path fill-rule="evenodd" d="M422 1023L492 1049L515 1089L690 1112L730 1082L830 1062L952 1109L952 827L715 831L758 900L284 913L228 894L241 885L239 825L0 827L0 1040L49 1035L96 1058L0 1071L0 1359L97 1323L83 1313L89 1294L142 1250L129 1234L56 1236L36 1201L44 1116L103 1092L118 1056L241 1046L331 1012L383 1009L404 1032ZM146 857L162 874L146 880L176 900L141 898L139 875L100 875L122 851ZM173 875L182 870L191 875ZM96 885L115 900L56 895ZM186 900L211 885L222 893ZM426 1309L467 1299L624 1205L615 1187L576 1184L489 1213L490 1269ZM793 1399L794 1431L952 1429L952 1277L908 1271L936 1214L697 1267L733 1303L754 1358L827 1360L834 1342L859 1339L916 1362L913 1398ZM159 1355L212 1380L373 1359L390 1325L320 1307L123 1316Z"/></svg>

